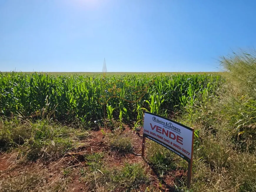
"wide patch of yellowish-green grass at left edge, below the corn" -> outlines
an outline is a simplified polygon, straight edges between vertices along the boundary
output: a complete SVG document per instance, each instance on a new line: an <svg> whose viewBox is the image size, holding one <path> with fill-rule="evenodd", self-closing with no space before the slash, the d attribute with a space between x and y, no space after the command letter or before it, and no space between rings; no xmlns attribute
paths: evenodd
<svg viewBox="0 0 256 192"><path fill-rule="evenodd" d="M18 158L22 161L54 160L73 149L80 139L89 136L88 131L46 120L35 123L2 120L2 126L1 149L18 147Z"/></svg>

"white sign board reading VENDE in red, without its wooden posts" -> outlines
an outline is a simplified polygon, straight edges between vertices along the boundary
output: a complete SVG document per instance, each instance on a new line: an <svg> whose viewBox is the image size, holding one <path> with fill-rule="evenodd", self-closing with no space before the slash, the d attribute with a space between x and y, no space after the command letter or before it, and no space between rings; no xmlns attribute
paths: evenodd
<svg viewBox="0 0 256 192"><path fill-rule="evenodd" d="M159 143L191 162L193 153L193 128L168 118L145 112L143 136Z"/></svg>

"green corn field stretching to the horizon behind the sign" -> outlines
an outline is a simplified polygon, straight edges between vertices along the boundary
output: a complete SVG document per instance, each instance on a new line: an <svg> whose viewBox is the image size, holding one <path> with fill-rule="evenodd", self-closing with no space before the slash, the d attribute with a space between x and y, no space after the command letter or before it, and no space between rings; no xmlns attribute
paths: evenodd
<svg viewBox="0 0 256 192"><path fill-rule="evenodd" d="M168 116L207 99L222 84L211 74L49 75L0 74L0 114L57 120L94 121L104 117L142 119L143 110ZM112 114L110 116L112 118Z"/></svg>

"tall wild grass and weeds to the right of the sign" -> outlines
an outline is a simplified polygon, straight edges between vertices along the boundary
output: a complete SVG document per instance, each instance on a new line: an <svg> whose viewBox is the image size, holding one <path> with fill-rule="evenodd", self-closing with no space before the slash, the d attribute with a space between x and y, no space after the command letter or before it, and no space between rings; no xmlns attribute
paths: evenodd
<svg viewBox="0 0 256 192"><path fill-rule="evenodd" d="M234 54L221 64L228 71L225 84L194 105L192 115L183 113L178 119L191 124L198 136L192 189L255 191L255 55Z"/></svg>

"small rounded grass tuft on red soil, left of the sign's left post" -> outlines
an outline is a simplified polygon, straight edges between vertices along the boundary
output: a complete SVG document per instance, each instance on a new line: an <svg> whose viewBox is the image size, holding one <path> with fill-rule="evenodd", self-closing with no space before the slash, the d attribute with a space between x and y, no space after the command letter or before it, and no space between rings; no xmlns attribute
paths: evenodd
<svg viewBox="0 0 256 192"><path fill-rule="evenodd" d="M128 133L121 133L115 131L114 133L109 133L106 136L106 140L112 151L116 151L120 154L133 152L133 138Z"/></svg>

